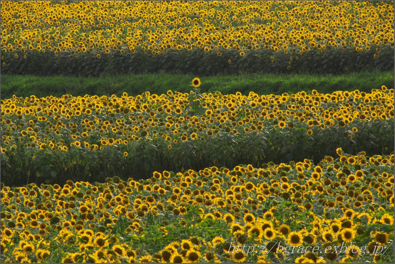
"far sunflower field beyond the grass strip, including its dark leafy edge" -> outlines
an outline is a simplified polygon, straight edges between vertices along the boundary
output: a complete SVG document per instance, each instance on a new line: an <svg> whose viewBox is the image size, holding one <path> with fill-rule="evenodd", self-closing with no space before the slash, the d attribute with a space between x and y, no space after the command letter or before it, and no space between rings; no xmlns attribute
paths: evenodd
<svg viewBox="0 0 395 264"><path fill-rule="evenodd" d="M392 1L2 1L3 73L392 70Z"/></svg>

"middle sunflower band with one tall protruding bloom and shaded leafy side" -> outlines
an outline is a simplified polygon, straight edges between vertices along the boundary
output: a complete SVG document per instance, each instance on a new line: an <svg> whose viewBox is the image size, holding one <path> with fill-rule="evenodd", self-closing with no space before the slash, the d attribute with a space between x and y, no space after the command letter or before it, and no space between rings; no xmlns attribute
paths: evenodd
<svg viewBox="0 0 395 264"><path fill-rule="evenodd" d="M200 94L199 88L121 97L14 96L1 102L1 170L13 175L5 179L12 185L305 157L319 162L337 147L354 155L390 154L393 96L385 86L371 93L261 96Z"/></svg>

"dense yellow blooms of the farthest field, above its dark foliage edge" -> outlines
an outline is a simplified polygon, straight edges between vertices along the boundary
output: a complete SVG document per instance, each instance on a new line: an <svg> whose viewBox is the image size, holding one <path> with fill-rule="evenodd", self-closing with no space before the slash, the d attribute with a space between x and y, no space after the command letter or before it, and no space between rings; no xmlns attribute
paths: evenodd
<svg viewBox="0 0 395 264"><path fill-rule="evenodd" d="M43 11L45 10L45 11ZM393 6L345 1L4 1L3 53L393 46ZM220 56L220 54L218 54Z"/></svg>

